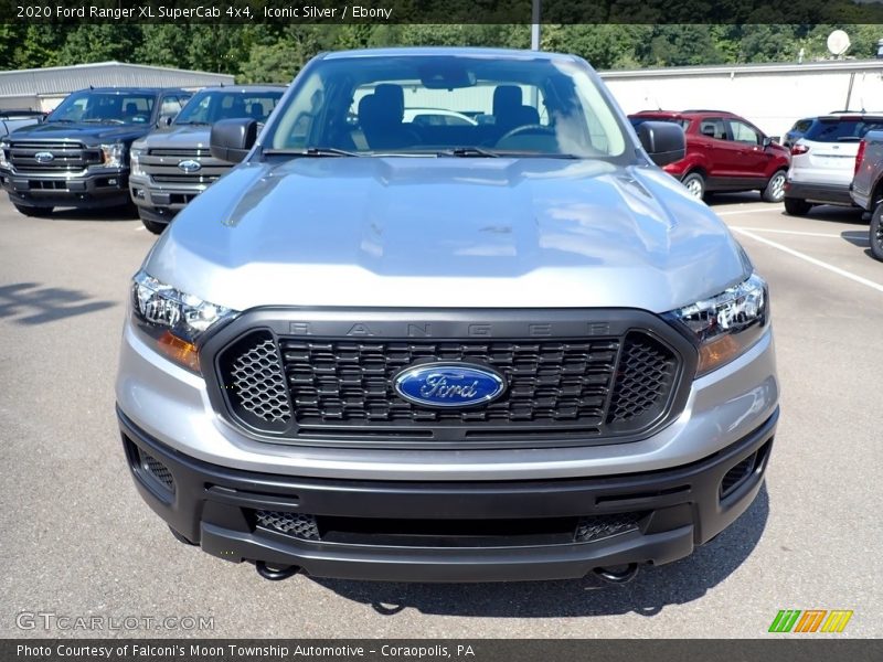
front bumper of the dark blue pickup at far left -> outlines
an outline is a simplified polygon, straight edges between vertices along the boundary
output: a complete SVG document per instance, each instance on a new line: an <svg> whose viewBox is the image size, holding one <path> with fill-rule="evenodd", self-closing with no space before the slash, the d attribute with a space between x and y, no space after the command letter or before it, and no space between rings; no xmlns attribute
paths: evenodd
<svg viewBox="0 0 883 662"><path fill-rule="evenodd" d="M76 175L0 171L0 185L19 205L34 207L111 207L128 202L128 171L102 169Z"/></svg>

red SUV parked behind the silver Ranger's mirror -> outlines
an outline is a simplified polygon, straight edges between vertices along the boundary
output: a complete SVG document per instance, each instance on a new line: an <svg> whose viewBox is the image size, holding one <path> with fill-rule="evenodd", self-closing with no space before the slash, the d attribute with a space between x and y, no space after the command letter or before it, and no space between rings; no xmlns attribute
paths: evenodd
<svg viewBox="0 0 883 662"><path fill-rule="evenodd" d="M709 191L752 190L760 191L766 202L785 197L790 154L747 119L724 110L642 110L628 118L635 128L648 120L683 127L687 156L663 170L696 197Z"/></svg>

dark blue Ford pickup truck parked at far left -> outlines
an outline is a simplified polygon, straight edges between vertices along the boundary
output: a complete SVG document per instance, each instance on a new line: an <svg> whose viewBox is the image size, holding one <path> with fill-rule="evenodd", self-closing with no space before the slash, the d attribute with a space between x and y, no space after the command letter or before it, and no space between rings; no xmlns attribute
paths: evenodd
<svg viewBox="0 0 883 662"><path fill-rule="evenodd" d="M96 87L0 139L0 184L28 216L129 202L129 147L190 98L183 89Z"/></svg>

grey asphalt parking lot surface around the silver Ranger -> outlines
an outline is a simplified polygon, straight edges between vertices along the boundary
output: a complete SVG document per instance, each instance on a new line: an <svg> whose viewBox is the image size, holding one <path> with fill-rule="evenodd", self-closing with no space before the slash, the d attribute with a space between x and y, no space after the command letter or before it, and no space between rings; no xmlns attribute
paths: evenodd
<svg viewBox="0 0 883 662"><path fill-rule="evenodd" d="M114 415L128 279L155 237L113 213L28 218L3 195L0 637L103 636L20 629L21 612L47 612L213 619L111 636L754 638L779 609L850 609L840 637L883 636L883 263L849 210L794 218L756 194L712 206L772 288L781 419L749 511L621 587L405 585L270 583L177 543L136 493Z"/></svg>

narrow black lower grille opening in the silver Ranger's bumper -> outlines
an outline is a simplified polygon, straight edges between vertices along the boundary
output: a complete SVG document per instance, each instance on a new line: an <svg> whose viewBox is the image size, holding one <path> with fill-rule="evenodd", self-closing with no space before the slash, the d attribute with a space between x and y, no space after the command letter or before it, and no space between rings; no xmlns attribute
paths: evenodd
<svg viewBox="0 0 883 662"><path fill-rule="evenodd" d="M396 520L254 511L254 522L258 527L299 541L397 547L514 547L594 543L639 531L642 516L641 513L615 513L518 520Z"/></svg>

